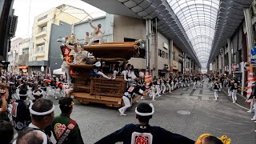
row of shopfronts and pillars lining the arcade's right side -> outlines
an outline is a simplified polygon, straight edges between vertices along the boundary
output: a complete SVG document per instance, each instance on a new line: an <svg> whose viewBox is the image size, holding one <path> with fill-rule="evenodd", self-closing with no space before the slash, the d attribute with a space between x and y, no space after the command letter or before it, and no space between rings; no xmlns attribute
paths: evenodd
<svg viewBox="0 0 256 144"><path fill-rule="evenodd" d="M251 49L256 42L256 1L250 8L244 9L244 19L230 38L226 39L219 54L211 62L210 70L214 74L225 74L235 78L244 89L249 75L256 78L256 56L251 54ZM245 63L251 63L250 69ZM241 90L239 93L243 94ZM244 95L244 94L243 94Z"/></svg>

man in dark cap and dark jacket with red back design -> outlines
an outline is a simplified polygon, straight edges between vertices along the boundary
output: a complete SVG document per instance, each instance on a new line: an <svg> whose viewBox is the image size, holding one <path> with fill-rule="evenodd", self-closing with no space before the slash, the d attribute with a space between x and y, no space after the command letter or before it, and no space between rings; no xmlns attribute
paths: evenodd
<svg viewBox="0 0 256 144"><path fill-rule="evenodd" d="M52 131L57 143L83 144L78 124L70 118L74 105L73 99L62 98L59 100L58 104L59 108L62 110L62 114L55 117L52 123Z"/></svg>

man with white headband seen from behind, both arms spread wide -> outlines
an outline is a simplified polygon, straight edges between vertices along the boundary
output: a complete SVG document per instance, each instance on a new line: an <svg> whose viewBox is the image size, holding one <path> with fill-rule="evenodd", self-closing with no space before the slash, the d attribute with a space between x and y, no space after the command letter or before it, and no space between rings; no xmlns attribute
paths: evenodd
<svg viewBox="0 0 256 144"><path fill-rule="evenodd" d="M190 138L180 134L174 134L159 126L150 126L149 121L154 114L154 106L150 103L140 103L135 109L139 124L128 124L122 129L102 138L96 144L123 142L124 144L147 143L147 144L194 144Z"/></svg>

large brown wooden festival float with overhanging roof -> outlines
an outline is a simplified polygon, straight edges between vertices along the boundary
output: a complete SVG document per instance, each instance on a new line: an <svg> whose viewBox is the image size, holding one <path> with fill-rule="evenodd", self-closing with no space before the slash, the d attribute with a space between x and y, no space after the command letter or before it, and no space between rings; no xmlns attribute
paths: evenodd
<svg viewBox="0 0 256 144"><path fill-rule="evenodd" d="M127 61L138 51L138 43L107 42L102 45L81 46L81 48L93 54L95 58L99 58L100 62L105 62L107 66L110 66L108 67L109 73L105 74L111 77L114 66L119 64L119 68L126 69ZM123 75L115 79L102 76L92 77L90 73L94 71L93 64L70 64L70 70L72 71L70 76L74 79L73 90L70 94L79 102L85 104L96 102L113 107L122 106L122 96L126 90Z"/></svg>

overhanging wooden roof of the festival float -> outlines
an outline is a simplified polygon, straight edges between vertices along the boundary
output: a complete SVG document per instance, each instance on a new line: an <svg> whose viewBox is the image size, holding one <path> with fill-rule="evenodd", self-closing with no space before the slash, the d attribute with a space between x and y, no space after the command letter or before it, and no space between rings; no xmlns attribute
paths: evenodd
<svg viewBox="0 0 256 144"><path fill-rule="evenodd" d="M83 50L93 53L95 58L125 58L134 55L136 42L106 42L102 45L82 46Z"/></svg>

